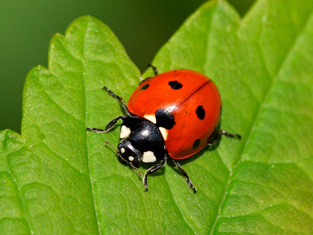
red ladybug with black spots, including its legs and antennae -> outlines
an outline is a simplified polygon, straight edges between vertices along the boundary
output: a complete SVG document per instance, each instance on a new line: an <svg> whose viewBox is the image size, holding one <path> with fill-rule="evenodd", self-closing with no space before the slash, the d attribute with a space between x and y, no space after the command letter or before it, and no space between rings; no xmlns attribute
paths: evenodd
<svg viewBox="0 0 313 235"><path fill-rule="evenodd" d="M147 175L161 169L171 159L186 177L188 185L197 192L187 172L176 159L187 158L205 146L218 143L222 134L241 138L219 130L221 97L211 79L203 74L185 69L171 70L148 77L139 83L131 95L128 106L122 97L109 88L103 89L118 99L128 116L114 118L106 128L87 128L93 132L110 131L122 119L117 154L132 168L140 163L156 163L143 176L145 191L148 190Z"/></svg>

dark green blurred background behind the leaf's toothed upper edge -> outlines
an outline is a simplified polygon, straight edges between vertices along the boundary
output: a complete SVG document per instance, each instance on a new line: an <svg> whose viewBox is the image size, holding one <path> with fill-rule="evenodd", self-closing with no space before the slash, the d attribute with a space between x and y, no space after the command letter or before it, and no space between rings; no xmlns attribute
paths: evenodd
<svg viewBox="0 0 313 235"><path fill-rule="evenodd" d="M22 90L28 71L48 64L49 41L77 17L107 24L143 72L160 47L202 0L20 1L1 0L0 130L21 132ZM244 15L254 0L229 0Z"/></svg>

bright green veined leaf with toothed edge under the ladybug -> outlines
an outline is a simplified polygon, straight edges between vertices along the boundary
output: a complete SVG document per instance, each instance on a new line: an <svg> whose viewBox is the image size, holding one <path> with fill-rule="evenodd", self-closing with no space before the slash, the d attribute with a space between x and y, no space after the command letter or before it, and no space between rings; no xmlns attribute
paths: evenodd
<svg viewBox="0 0 313 235"><path fill-rule="evenodd" d="M241 19L225 1L199 8L157 53L159 72L198 70L218 86L223 137L148 177L110 146L140 73L98 20L53 37L49 70L23 92L22 134L0 132L0 234L312 234L313 2L257 1ZM144 76L152 74L149 69ZM146 170L147 166L142 166Z"/></svg>

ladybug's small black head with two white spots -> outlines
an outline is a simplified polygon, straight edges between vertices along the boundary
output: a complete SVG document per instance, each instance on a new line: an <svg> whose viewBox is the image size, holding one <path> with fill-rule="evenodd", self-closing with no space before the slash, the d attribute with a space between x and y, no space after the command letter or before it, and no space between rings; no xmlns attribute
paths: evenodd
<svg viewBox="0 0 313 235"><path fill-rule="evenodd" d="M117 145L121 159L132 164L139 164L142 160L141 152L131 143L128 138L122 139Z"/></svg>

